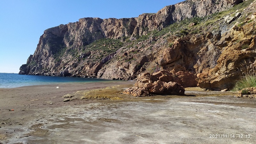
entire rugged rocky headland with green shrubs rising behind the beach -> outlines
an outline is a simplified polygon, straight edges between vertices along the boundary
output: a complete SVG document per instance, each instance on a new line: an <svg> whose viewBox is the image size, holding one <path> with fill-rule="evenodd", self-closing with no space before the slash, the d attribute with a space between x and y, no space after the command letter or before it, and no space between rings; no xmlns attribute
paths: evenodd
<svg viewBox="0 0 256 144"><path fill-rule="evenodd" d="M131 80L164 69L197 74L200 87L230 88L235 67L254 63L254 6L187 0L138 18L79 19L45 30L20 74Z"/></svg>

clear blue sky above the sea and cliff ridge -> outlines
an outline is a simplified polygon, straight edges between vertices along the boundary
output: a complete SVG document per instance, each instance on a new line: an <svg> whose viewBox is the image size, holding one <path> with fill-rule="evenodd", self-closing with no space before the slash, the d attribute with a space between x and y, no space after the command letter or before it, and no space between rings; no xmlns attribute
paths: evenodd
<svg viewBox="0 0 256 144"><path fill-rule="evenodd" d="M50 27L80 18L131 18L184 0L1 0L0 72L18 73Z"/></svg>

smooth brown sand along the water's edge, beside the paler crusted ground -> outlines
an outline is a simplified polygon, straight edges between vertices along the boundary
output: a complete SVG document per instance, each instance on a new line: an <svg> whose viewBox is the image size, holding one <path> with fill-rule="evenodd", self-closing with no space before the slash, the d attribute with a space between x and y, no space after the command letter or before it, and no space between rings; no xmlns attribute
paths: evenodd
<svg viewBox="0 0 256 144"><path fill-rule="evenodd" d="M13 116L27 117L27 114L31 114L33 111L41 108L82 104L84 101L63 102L64 99L62 98L62 96L66 94L74 93L79 90L99 89L119 84L130 86L134 83L134 81L113 81L0 88L0 123L9 122L10 124L10 121L17 121Z"/></svg>

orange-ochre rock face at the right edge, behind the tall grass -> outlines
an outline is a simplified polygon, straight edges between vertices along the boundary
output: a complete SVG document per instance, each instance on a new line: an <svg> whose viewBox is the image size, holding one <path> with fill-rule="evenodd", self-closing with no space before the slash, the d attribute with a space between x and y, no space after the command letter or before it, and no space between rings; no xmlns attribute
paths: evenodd
<svg viewBox="0 0 256 144"><path fill-rule="evenodd" d="M223 49L217 64L208 72L198 73L198 86L210 90L231 89L244 74L254 72L256 67L256 13L239 26L236 24L223 34L217 43ZM249 23L248 23L249 21Z"/></svg>

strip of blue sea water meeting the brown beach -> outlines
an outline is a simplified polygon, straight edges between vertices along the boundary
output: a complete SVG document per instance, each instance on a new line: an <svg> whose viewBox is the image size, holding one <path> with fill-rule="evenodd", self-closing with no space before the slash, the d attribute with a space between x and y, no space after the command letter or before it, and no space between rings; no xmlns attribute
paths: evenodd
<svg viewBox="0 0 256 144"><path fill-rule="evenodd" d="M0 73L0 88L14 88L34 85L60 83L88 83L110 81L96 78L53 77L41 75L20 75L18 73Z"/></svg>

